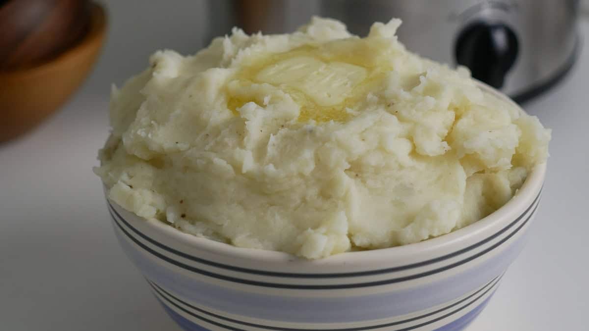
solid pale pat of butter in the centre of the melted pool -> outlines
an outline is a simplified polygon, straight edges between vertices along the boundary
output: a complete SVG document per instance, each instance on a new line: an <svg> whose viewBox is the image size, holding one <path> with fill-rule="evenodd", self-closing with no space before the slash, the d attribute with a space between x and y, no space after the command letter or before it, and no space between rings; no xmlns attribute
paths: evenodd
<svg viewBox="0 0 589 331"><path fill-rule="evenodd" d="M365 68L345 62L323 62L313 57L294 57L269 65L256 81L299 90L317 105L342 103L366 79Z"/></svg>

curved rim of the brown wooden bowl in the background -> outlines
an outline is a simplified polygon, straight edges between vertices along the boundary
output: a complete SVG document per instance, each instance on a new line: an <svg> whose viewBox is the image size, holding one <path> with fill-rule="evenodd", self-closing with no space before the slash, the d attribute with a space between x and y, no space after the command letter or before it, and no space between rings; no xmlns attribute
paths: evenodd
<svg viewBox="0 0 589 331"><path fill-rule="evenodd" d="M80 52L84 52L86 49L91 48L95 43L101 43L102 38L107 27L107 13L104 7L96 2L92 2L92 8L90 13L90 28L88 32L71 47L65 49L55 57L49 58L46 61L32 65L31 67L7 69L0 71L1 78L15 78L26 76L30 74L38 74L51 70L52 68L58 67L64 63L70 62L71 58L74 58Z"/></svg>

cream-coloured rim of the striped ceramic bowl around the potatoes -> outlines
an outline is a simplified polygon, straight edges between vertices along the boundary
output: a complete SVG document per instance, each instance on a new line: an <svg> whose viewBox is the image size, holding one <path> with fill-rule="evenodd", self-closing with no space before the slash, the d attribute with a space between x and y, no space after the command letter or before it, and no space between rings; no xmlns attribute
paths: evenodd
<svg viewBox="0 0 589 331"><path fill-rule="evenodd" d="M518 104L516 104L501 92L495 90L492 87L489 87L487 84L482 82L477 81L477 84L485 92L489 92L496 97L501 98L501 100L507 101L508 103L514 105L519 110L524 111ZM104 186L104 190L108 203L118 206L118 208L125 211L125 214L128 215L128 217L124 217L125 220L131 221L131 223L135 224L140 222L140 224L143 224L142 227L145 227L144 229L157 231L166 236L166 240L181 244L183 247L187 247L188 249L206 251L207 253L220 257L247 260L248 262L261 263L265 265L297 261L299 263L317 264L329 267L337 266L342 263L370 264L382 260L389 260L394 262L401 259L406 260L408 257L413 257L416 255L437 255L439 253L436 254L436 252L455 251L456 247L467 246L472 242L472 240L478 241L479 237L486 237L489 233L495 233L497 228L502 228L505 226L505 224L511 223L513 220L521 216L522 213L528 213L529 207L533 206L537 198L540 196L540 192L544 184L546 168L546 163L541 163L534 166L524 181L524 184L522 184L521 188L519 188L514 197L507 201L504 206L498 208L493 213L482 218L481 220L475 221L474 223L462 227L461 229L442 234L438 237L422 240L417 243L382 249L345 251L343 253L334 254L332 256L327 256L316 260L307 260L303 257L294 256L293 254L285 253L283 251L237 247L231 244L222 243L220 241L194 236L193 234L178 230L175 227L170 226L170 224L164 223L163 221L155 219L146 220L143 217L137 216L134 213L125 210L123 207L120 207L118 204L116 204L114 201L111 201L110 198L107 197L106 186Z"/></svg>

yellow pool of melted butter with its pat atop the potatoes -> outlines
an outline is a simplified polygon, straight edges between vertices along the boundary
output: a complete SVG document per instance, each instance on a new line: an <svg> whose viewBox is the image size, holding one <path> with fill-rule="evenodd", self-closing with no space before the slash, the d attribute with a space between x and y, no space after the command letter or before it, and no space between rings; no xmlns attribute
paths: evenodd
<svg viewBox="0 0 589 331"><path fill-rule="evenodd" d="M386 45L350 38L249 58L230 82L227 107L237 115L247 102L263 105L261 94L247 87L266 83L300 105L301 122L346 121L352 116L348 108L365 99L391 70L388 53Z"/></svg>

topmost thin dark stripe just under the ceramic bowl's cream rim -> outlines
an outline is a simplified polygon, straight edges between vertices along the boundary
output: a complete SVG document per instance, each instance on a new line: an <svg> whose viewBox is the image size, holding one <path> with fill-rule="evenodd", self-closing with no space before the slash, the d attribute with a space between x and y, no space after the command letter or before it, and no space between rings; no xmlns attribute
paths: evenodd
<svg viewBox="0 0 589 331"><path fill-rule="evenodd" d="M472 244L471 246L465 247L464 249L458 250L458 251L454 251L452 253L446 254L444 256L441 257L436 257L435 259L430 259L430 260L426 260L426 261L422 261L422 262L418 262L418 263L412 263L412 264L407 264L405 266L399 266L399 267L392 267L392 268L385 268L385 269L378 269L378 270L368 270L365 272L353 272L353 273L282 273L282 272L269 272L269 271L264 271L264 270L256 270L256 269L249 269L249 268L243 268L243 267L237 267L237 266L231 266L229 264L223 264L223 263L218 263L218 262L213 262L213 261L209 261L209 260L205 260L205 259L201 259L199 257L196 256L191 256L190 254L186 254L182 251L178 251L175 250L171 247L166 246L165 244L162 244L148 236L146 236L144 233L141 233L141 231L138 231L137 229L135 229L133 226L131 226L131 224L129 224L124 217L122 217L118 211L114 208L114 206L112 206L111 202L108 201L107 199L107 203L109 206L109 209L111 210L111 216L112 213L114 212L114 214L117 216L116 218L118 220L120 220L121 222L123 222L123 224L125 224L125 226L128 227L128 229L131 229L131 231L133 231L134 233L138 234L138 236L140 236L142 239L150 242L151 244L154 244L155 246L159 247L160 249L166 250L170 253L176 254L177 256L183 257L184 259L188 259L188 260L192 260L194 262L197 263L201 263L201 264L206 264L209 266L213 266L213 267L218 267L221 269L227 269L227 270L231 270L231 271L235 271L235 272L242 272L242 273L250 273L250 274L257 274L257 275L261 275L261 276L272 276L272 277L289 277L289 278L338 278L338 277L361 277L361 276L371 276L371 275L376 275L376 274L386 274L386 273L391 273L391 272L400 272L400 271L404 271L404 270L409 270L409 269L414 269L417 267L423 267L423 266L428 266L429 264L433 264L433 263L438 263L447 259L451 259L452 257L456 257L459 256L461 254L467 253L468 251L474 250L479 246L482 246L485 243L488 243L489 241L497 238L498 236L501 236L501 234L505 233L505 231L508 231L509 229L511 229L511 227L515 226L515 224L517 224L529 211L530 209L538 202L538 200L540 199L542 193L542 188L540 188L540 191L538 191L538 195L534 198L534 201L532 201L532 203L530 204L530 206L528 206L528 208L524 211L524 213L522 213L519 217L517 217L514 221L512 221L511 223L509 223L507 226L505 226L503 229L497 231L497 233L492 234L491 236L479 241L478 243ZM533 213L533 212L532 212ZM114 216L112 216L113 218L115 218Z"/></svg>

